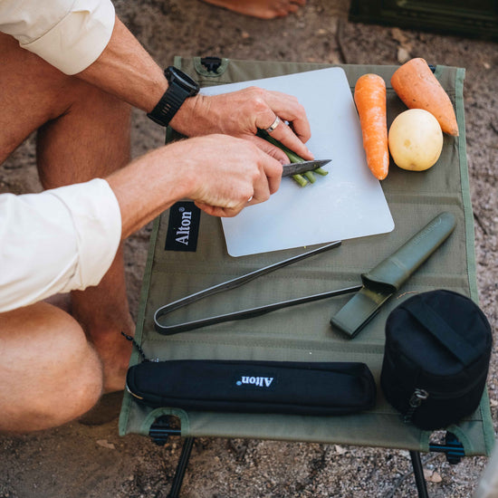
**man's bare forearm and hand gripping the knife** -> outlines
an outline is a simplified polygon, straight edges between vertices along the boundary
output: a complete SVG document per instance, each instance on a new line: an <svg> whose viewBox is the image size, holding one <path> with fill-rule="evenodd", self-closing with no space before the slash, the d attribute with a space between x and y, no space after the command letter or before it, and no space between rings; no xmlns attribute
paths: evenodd
<svg viewBox="0 0 498 498"><path fill-rule="evenodd" d="M126 238L182 198L208 215L235 216L280 187L281 163L248 140L208 135L148 152L107 178Z"/></svg>

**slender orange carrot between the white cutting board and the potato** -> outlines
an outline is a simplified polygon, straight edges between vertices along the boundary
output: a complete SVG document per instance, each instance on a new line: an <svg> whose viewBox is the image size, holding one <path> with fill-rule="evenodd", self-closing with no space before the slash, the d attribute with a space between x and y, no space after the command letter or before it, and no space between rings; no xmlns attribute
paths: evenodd
<svg viewBox="0 0 498 498"><path fill-rule="evenodd" d="M389 169L385 81L378 74L360 76L355 85L354 101L358 110L367 164L374 177L383 180L388 176Z"/></svg>

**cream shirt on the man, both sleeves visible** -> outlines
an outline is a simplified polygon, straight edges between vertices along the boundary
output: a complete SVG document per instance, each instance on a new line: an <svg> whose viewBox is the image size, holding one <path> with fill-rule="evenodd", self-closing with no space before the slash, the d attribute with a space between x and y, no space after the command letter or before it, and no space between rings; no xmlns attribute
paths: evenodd
<svg viewBox="0 0 498 498"><path fill-rule="evenodd" d="M110 0L0 0L0 32L66 74L99 57L114 19ZM0 312L98 284L120 235L120 206L103 179L0 195Z"/></svg>

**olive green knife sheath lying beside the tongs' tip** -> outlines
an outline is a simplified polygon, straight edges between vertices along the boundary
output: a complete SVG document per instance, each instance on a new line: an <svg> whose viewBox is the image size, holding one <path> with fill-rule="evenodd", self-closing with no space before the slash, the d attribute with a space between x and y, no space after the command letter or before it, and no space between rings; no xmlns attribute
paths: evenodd
<svg viewBox="0 0 498 498"><path fill-rule="evenodd" d="M397 249L396 253L378 263L368 273L362 273L363 287L331 318L331 325L352 339L454 229L455 216L441 213Z"/></svg>

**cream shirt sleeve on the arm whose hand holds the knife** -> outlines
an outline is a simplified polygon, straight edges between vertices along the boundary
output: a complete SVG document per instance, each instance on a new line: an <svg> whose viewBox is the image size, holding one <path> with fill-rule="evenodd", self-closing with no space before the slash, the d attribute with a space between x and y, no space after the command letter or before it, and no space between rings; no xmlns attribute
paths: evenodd
<svg viewBox="0 0 498 498"><path fill-rule="evenodd" d="M107 181L0 195L0 312L100 283L121 237Z"/></svg>

